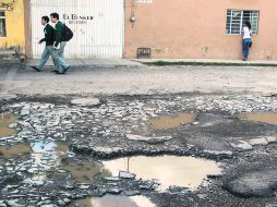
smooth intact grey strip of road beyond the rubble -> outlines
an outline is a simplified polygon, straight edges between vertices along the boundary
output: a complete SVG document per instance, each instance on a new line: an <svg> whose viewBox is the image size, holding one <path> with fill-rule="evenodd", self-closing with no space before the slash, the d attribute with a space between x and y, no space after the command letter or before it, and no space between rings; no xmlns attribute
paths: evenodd
<svg viewBox="0 0 277 207"><path fill-rule="evenodd" d="M1 94L22 95L148 95L178 93L275 94L275 68L253 66L145 66L123 62L75 65L65 75L29 66L0 66Z"/></svg>

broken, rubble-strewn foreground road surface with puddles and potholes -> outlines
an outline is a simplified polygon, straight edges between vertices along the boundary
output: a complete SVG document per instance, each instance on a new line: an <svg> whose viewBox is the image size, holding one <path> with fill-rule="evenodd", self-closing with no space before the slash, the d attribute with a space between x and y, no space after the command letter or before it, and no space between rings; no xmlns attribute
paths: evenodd
<svg viewBox="0 0 277 207"><path fill-rule="evenodd" d="M254 95L0 100L0 206L276 206L276 112Z"/></svg>

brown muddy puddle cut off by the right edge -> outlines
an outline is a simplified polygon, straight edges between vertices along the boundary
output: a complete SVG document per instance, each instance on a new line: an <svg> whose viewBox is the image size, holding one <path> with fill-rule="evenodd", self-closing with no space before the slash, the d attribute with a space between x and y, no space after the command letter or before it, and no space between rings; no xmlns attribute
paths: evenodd
<svg viewBox="0 0 277 207"><path fill-rule="evenodd" d="M236 118L248 121L264 122L277 125L277 113L274 112L253 112L253 113L240 113Z"/></svg>

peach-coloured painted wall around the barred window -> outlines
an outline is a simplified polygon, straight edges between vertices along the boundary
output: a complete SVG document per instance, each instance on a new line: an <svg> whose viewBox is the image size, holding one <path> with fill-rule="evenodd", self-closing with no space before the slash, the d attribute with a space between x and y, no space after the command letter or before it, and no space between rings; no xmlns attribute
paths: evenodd
<svg viewBox="0 0 277 207"><path fill-rule="evenodd" d="M227 9L239 9L260 10L250 59L277 60L275 7L276 0L127 0L125 58L148 47L152 58L241 59L241 36L226 34Z"/></svg>

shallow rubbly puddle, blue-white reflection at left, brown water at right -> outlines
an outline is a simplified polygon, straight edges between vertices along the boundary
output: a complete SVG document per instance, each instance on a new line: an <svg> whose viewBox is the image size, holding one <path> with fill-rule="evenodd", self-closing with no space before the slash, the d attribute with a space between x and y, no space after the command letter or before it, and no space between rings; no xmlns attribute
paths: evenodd
<svg viewBox="0 0 277 207"><path fill-rule="evenodd" d="M36 175L38 180L46 179L46 170L56 173L69 173L76 183L91 182L95 175L100 178L110 176L111 173L103 168L100 162L83 158L65 158L69 151L69 143L62 142L36 142L32 145L32 157L34 165L43 168L41 176ZM63 159L65 158L65 159Z"/></svg>

